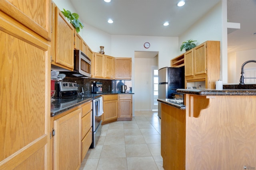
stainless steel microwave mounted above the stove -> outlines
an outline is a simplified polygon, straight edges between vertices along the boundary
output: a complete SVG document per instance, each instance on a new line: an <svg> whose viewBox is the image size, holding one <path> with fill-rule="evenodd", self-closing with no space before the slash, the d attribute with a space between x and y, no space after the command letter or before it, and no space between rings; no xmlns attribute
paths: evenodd
<svg viewBox="0 0 256 170"><path fill-rule="evenodd" d="M81 50L74 50L74 72L91 77L91 59Z"/></svg>

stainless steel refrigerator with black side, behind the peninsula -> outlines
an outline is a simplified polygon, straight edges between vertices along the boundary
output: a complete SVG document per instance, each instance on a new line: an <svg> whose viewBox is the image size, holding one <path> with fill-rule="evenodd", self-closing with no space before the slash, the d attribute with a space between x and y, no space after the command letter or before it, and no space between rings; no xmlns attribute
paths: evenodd
<svg viewBox="0 0 256 170"><path fill-rule="evenodd" d="M158 70L158 98L173 98L176 89L185 87L184 66L164 67ZM161 105L158 103L158 117L161 118Z"/></svg>

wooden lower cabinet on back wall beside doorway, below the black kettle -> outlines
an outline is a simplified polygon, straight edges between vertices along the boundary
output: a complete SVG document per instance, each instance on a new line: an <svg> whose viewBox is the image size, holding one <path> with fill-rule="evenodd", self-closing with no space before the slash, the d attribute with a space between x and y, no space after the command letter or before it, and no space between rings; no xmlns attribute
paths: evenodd
<svg viewBox="0 0 256 170"><path fill-rule="evenodd" d="M132 120L132 94L118 95L118 121Z"/></svg>

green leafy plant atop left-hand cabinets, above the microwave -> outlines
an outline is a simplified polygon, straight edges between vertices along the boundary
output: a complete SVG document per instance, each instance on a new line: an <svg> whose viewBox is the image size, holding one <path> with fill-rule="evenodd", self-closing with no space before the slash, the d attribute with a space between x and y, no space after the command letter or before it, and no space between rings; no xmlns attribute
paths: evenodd
<svg viewBox="0 0 256 170"><path fill-rule="evenodd" d="M63 10L64 10L64 11L62 11L62 14L63 14L66 18L68 18L68 21L69 21L70 23L72 23L72 25L74 25L74 27L76 28L76 32L79 33L80 28L82 29L82 28L84 27L84 24L82 24L82 22L80 22L80 21L78 20L79 15L76 14L76 13L72 13L72 14L71 14L71 12L70 12L69 10L65 10L64 8L63 8Z"/></svg>

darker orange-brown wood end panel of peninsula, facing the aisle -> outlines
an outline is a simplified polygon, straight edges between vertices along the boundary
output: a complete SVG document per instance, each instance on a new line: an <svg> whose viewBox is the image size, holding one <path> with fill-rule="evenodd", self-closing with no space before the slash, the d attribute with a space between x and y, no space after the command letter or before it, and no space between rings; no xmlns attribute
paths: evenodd
<svg viewBox="0 0 256 170"><path fill-rule="evenodd" d="M161 156L165 170L185 170L186 111L161 104Z"/></svg>

